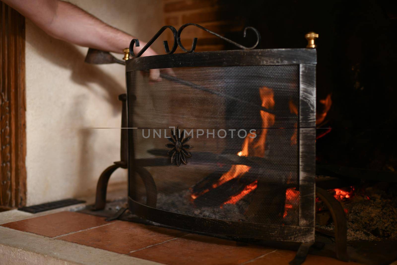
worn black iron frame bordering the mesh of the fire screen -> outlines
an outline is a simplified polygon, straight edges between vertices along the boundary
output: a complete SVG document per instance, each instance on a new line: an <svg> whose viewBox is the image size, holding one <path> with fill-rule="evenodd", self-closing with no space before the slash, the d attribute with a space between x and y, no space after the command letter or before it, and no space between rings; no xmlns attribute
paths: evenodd
<svg viewBox="0 0 397 265"><path fill-rule="evenodd" d="M131 137L133 116L128 115L128 170L129 210L150 221L193 230L211 235L227 235L243 238L257 238L288 242L314 242L314 200L315 200L315 113L316 113L316 50L314 49L270 49L233 50L219 52L198 52L167 54L133 58L127 61L126 73L158 68L202 67L202 66L244 66L244 65L299 65L299 226L282 226L183 215L156 209L156 198L150 198L146 205L133 198L135 172L143 179L146 189L155 191L152 176L139 159L135 160L134 141ZM127 81L127 109L133 113L136 100L134 79ZM144 162L144 161L142 161ZM151 162L155 162L151 161ZM153 194L153 193L152 193ZM156 194L156 193L154 193ZM153 196L155 197L155 196Z"/></svg>

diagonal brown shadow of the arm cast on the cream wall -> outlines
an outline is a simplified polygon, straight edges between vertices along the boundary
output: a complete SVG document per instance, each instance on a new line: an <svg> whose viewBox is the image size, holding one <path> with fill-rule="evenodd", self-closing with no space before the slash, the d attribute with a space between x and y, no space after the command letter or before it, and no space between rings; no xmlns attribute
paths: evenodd
<svg viewBox="0 0 397 265"><path fill-rule="evenodd" d="M104 100L113 106L113 115L121 112L118 95L125 93L125 87L122 87L114 77L102 71L98 66L84 62L85 54L81 54L81 51L73 44L49 37L33 23L31 23L31 27L34 28L35 35L43 35L42 37L37 36L35 43L29 42L40 56L57 66L69 69L71 72L70 79L73 83L82 85L90 90L91 86L89 84L96 83L104 91L102 93ZM44 43L48 39L50 39L51 45ZM37 42L37 40L43 41ZM56 47L56 50L49 50L49 46ZM123 71L123 68L120 71Z"/></svg>

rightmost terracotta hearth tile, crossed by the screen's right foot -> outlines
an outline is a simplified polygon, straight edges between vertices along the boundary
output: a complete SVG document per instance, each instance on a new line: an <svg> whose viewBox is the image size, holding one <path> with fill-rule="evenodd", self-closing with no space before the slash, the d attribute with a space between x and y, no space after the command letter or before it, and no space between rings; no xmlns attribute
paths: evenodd
<svg viewBox="0 0 397 265"><path fill-rule="evenodd" d="M263 257L255 259L247 265L262 265L262 264L279 264L287 265L289 261L293 260L296 252L291 250L276 250L268 253ZM308 255L303 263L304 265L359 265L355 262L343 262L330 257L322 257L316 255Z"/></svg>

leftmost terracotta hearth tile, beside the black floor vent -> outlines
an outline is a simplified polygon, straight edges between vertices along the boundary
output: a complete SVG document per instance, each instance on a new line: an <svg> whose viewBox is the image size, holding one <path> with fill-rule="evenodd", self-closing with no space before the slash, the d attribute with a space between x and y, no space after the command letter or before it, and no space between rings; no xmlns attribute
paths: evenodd
<svg viewBox="0 0 397 265"><path fill-rule="evenodd" d="M60 236L87 228L109 224L104 217L84 213L60 212L31 219L2 224L15 230L31 232L42 236Z"/></svg>

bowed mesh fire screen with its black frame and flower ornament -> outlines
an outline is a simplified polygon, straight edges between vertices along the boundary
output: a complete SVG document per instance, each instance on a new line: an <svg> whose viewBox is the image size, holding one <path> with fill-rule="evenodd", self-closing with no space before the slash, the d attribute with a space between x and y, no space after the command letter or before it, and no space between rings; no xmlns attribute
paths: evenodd
<svg viewBox="0 0 397 265"><path fill-rule="evenodd" d="M127 61L129 209L175 228L314 242L313 49Z"/></svg>

